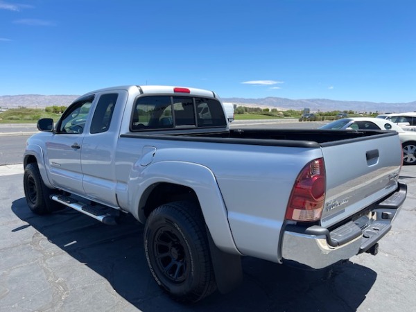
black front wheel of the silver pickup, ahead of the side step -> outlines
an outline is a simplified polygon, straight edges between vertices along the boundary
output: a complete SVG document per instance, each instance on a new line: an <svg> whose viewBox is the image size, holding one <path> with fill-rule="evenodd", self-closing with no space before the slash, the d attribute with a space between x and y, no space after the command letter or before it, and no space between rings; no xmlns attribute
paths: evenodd
<svg viewBox="0 0 416 312"><path fill-rule="evenodd" d="M61 208L58 202L49 198L52 189L46 187L36 163L27 164L23 175L24 195L29 208L35 214L49 214Z"/></svg>

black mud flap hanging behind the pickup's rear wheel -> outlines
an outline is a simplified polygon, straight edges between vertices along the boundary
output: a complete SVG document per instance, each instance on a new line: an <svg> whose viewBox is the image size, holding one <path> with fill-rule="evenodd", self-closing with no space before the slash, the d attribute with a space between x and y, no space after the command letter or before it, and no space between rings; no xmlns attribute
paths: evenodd
<svg viewBox="0 0 416 312"><path fill-rule="evenodd" d="M218 291L223 294L229 293L243 281L241 257L220 250L212 240L208 227L207 236Z"/></svg>

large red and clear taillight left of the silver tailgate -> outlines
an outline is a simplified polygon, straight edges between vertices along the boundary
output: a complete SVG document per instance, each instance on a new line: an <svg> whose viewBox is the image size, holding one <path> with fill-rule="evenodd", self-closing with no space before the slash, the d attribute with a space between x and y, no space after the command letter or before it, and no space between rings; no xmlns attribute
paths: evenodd
<svg viewBox="0 0 416 312"><path fill-rule="evenodd" d="M325 164L315 159L300 171L286 209L286 220L316 221L322 215L325 200Z"/></svg>

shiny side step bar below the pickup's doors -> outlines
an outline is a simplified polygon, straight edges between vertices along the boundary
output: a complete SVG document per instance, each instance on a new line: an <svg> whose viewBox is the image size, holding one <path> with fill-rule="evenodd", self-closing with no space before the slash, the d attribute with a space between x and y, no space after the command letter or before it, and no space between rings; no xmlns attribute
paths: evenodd
<svg viewBox="0 0 416 312"><path fill-rule="evenodd" d="M99 205L86 205L85 203L78 202L68 196L52 195L51 200L55 200L55 202L60 202L62 205L80 211L83 214L86 214L87 216L90 216L106 225L116 225L116 217L120 214L120 211L115 209Z"/></svg>

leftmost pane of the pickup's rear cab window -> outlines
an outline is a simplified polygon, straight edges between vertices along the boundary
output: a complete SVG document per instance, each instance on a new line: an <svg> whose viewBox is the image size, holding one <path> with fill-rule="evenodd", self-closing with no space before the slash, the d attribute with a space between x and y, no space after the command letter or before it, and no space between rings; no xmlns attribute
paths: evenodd
<svg viewBox="0 0 416 312"><path fill-rule="evenodd" d="M143 96L137 99L130 129L173 128L171 96Z"/></svg>

